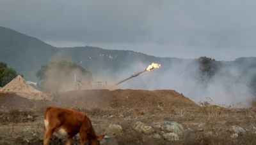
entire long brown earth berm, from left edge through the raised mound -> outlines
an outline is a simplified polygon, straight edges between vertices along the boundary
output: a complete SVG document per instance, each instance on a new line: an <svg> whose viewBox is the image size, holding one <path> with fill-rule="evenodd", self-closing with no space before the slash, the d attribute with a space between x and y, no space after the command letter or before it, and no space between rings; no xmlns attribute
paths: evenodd
<svg viewBox="0 0 256 145"><path fill-rule="evenodd" d="M59 92L52 101L36 100L37 93L0 93L0 104L8 107L65 107L90 108L149 108L149 107L197 107L197 104L175 90L74 90ZM24 98L26 95L26 99ZM33 100L28 99L29 96ZM42 98L41 95L38 97Z"/></svg>

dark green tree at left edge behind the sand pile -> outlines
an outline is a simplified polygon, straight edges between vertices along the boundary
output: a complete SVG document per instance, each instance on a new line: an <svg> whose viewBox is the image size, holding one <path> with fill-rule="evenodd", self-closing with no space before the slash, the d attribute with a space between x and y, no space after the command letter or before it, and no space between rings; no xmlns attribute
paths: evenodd
<svg viewBox="0 0 256 145"><path fill-rule="evenodd" d="M0 86L4 86L17 76L17 72L8 67L5 62L0 62Z"/></svg>

